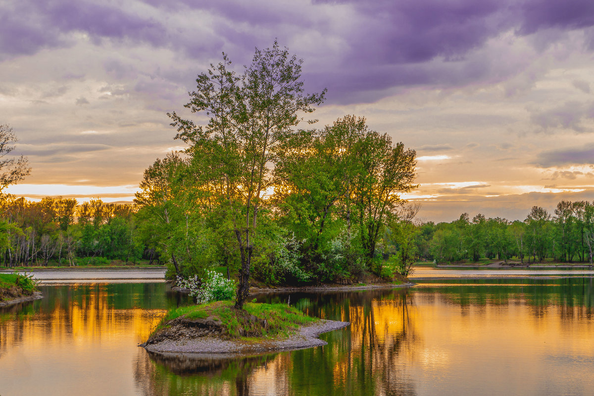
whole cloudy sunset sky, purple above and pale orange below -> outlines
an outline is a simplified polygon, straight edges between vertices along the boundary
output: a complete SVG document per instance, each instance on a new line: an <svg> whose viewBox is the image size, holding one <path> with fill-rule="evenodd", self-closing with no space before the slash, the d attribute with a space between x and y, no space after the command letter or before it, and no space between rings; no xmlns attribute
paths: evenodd
<svg viewBox="0 0 594 396"><path fill-rule="evenodd" d="M8 191L131 201L184 148L166 113L197 74L275 38L328 88L319 128L363 116L416 150L421 220L594 199L591 0L4 0L0 124L32 167Z"/></svg>

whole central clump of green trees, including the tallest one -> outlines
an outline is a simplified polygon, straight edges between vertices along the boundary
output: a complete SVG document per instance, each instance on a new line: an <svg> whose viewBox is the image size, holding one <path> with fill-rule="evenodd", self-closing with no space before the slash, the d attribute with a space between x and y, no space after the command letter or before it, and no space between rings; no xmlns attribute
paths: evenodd
<svg viewBox="0 0 594 396"><path fill-rule="evenodd" d="M375 246L397 217L400 194L416 187L415 151L364 118L300 128L315 122L305 118L326 95L305 93L301 65L276 41L256 49L241 74L223 54L198 75L185 104L207 122L168 114L188 148L147 169L137 195L147 243L170 256L170 275L231 267L237 308L250 277L299 283L381 275Z"/></svg>

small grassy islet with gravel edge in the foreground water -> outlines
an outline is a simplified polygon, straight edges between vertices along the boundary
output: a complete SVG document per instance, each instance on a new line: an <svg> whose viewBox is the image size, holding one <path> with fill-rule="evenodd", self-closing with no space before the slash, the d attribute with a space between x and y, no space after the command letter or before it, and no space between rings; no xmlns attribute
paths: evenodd
<svg viewBox="0 0 594 396"><path fill-rule="evenodd" d="M349 322L312 318L285 304L217 301L172 309L146 343L154 353L233 355L323 346L318 335Z"/></svg>

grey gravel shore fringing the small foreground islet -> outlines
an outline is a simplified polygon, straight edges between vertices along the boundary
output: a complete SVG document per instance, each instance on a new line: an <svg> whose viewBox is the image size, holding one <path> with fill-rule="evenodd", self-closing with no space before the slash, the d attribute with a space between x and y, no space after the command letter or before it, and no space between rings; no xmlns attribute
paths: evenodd
<svg viewBox="0 0 594 396"><path fill-rule="evenodd" d="M180 340L165 340L160 343L143 346L154 353L200 353L200 354L245 354L268 351L295 350L326 345L326 341L317 338L318 335L339 330L350 322L327 321L320 319L314 324L300 327L295 334L286 340L264 338L261 341L222 340L217 337L182 338Z"/></svg>

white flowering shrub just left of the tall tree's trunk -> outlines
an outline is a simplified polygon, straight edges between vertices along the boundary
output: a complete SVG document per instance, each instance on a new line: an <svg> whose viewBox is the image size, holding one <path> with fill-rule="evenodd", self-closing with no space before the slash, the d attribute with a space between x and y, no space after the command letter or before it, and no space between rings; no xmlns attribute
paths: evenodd
<svg viewBox="0 0 594 396"><path fill-rule="evenodd" d="M189 289L189 295L195 297L198 304L211 301L232 300L235 297L235 281L227 279L216 271L207 271L206 277L198 280L198 275L184 279L178 275L179 287Z"/></svg>

